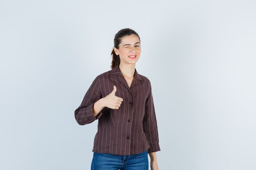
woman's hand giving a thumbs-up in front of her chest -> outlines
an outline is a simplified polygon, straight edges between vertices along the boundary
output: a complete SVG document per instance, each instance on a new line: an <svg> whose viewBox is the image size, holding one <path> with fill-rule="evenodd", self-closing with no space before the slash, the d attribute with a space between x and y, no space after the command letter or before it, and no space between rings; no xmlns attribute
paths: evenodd
<svg viewBox="0 0 256 170"><path fill-rule="evenodd" d="M123 99L121 97L117 97L115 95L117 91L116 86L114 86L113 91L103 98L104 100L104 106L112 109L119 109L121 106L121 103L123 102Z"/></svg>

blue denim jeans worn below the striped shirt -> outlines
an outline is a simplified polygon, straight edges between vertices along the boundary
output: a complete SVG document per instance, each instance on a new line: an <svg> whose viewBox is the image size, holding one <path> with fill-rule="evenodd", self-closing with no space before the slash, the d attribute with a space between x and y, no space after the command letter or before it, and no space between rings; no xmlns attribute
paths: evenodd
<svg viewBox="0 0 256 170"><path fill-rule="evenodd" d="M148 170L148 150L135 155L93 152L91 170Z"/></svg>

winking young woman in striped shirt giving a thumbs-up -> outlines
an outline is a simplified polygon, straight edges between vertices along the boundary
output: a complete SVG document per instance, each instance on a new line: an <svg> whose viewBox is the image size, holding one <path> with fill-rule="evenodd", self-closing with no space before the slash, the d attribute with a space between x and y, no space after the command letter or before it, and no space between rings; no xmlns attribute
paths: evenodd
<svg viewBox="0 0 256 170"><path fill-rule="evenodd" d="M111 70L98 75L75 110L78 124L98 119L91 170L158 170L157 120L147 77L135 64L141 54L139 35L121 29L114 38Z"/></svg>

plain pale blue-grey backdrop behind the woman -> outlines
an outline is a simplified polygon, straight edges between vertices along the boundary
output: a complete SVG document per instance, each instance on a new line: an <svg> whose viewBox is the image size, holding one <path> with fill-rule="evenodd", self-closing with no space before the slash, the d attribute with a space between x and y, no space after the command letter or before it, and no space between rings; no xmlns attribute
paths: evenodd
<svg viewBox="0 0 256 170"><path fill-rule="evenodd" d="M97 123L74 110L141 38L159 170L256 169L256 1L1 0L0 169L89 170Z"/></svg>

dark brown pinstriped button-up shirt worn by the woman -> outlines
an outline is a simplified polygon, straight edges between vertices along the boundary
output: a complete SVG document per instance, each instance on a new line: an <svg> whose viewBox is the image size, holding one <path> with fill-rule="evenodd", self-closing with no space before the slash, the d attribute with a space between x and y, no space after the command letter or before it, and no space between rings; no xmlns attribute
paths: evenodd
<svg viewBox="0 0 256 170"><path fill-rule="evenodd" d="M118 109L104 107L94 116L94 103L109 95L114 85L117 87L115 95L123 99L121 106ZM130 87L119 65L98 75L74 115L79 125L98 119L92 152L132 155L160 150L151 84L147 77L137 73L136 68Z"/></svg>

